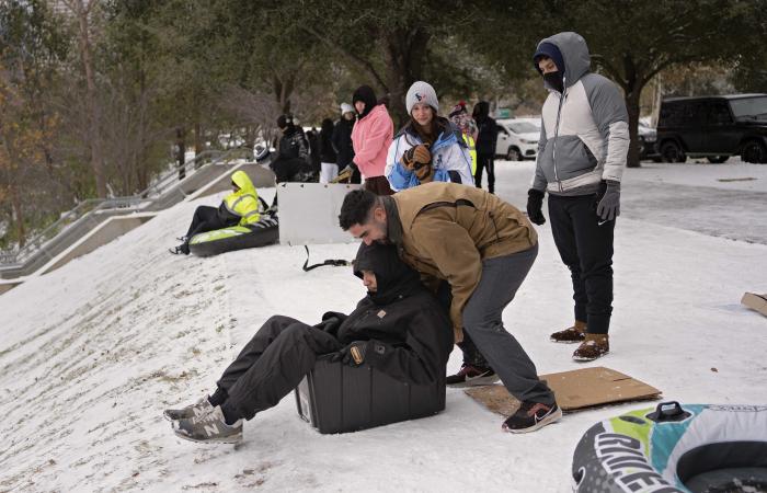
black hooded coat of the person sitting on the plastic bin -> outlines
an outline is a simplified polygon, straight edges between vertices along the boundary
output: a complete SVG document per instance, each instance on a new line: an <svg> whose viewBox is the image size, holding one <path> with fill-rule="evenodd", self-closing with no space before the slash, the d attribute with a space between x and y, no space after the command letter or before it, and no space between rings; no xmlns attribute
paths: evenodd
<svg viewBox="0 0 767 493"><path fill-rule="evenodd" d="M365 362L399 381L436 381L445 374L453 349L447 312L423 287L419 274L402 263L394 246L363 243L355 274L362 276L362 270L376 273L378 291L368 294L348 316L327 312L320 325L342 344L371 341Z"/></svg>

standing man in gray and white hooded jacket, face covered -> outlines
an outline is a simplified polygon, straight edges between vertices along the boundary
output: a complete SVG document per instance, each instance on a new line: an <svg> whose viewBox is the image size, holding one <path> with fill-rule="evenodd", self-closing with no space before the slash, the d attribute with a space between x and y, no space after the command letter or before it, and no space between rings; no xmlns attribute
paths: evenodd
<svg viewBox="0 0 767 493"><path fill-rule="evenodd" d="M534 62L549 96L527 213L533 222L546 222L548 191L551 231L575 300L575 323L551 340L580 342L573 358L593 360L609 351L613 233L629 149L628 113L618 87L589 71L588 47L577 33L542 39Z"/></svg>

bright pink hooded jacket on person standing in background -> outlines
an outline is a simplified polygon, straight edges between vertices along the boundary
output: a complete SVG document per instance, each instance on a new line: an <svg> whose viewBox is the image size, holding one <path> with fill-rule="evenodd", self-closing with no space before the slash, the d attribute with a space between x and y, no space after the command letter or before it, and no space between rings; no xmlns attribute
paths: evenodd
<svg viewBox="0 0 767 493"><path fill-rule="evenodd" d="M354 163L366 179L384 176L386 156L394 135L394 123L386 106L374 107L364 118L354 125L352 145Z"/></svg>

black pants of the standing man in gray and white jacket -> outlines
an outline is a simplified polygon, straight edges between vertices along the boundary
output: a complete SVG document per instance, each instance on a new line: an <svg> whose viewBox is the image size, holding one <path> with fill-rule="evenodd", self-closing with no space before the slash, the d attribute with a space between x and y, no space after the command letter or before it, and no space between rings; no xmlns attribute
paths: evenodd
<svg viewBox="0 0 767 493"><path fill-rule="evenodd" d="M613 313L613 232L615 221L599 226L596 197L549 195L551 231L573 279L575 320L588 333L606 334Z"/></svg>

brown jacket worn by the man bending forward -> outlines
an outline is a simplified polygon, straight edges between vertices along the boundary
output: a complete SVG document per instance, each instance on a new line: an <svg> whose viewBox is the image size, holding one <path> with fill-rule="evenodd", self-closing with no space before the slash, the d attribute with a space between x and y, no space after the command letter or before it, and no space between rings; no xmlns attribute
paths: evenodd
<svg viewBox="0 0 767 493"><path fill-rule="evenodd" d="M399 192L385 204L388 237L402 260L425 274L425 280L436 277L450 284L456 342L463 340L461 312L479 284L482 261L538 243L519 210L473 186L426 183Z"/></svg>

